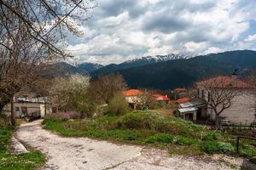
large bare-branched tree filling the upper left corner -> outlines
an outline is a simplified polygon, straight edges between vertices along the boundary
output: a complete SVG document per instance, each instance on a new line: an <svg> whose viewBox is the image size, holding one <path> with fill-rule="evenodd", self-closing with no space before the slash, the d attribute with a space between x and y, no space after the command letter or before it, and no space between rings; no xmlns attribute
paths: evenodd
<svg viewBox="0 0 256 170"><path fill-rule="evenodd" d="M71 57L63 40L95 6L86 0L0 0L0 112L45 65Z"/></svg>

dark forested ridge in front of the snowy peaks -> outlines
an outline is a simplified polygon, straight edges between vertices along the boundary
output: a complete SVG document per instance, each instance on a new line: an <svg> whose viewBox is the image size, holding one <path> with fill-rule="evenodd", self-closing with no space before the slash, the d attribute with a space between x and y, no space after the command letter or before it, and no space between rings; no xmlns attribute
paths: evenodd
<svg viewBox="0 0 256 170"><path fill-rule="evenodd" d="M108 70L108 73L119 72L131 88L172 89L192 86L193 82L204 77L231 75L236 69L240 76L244 76L248 71L256 69L256 52L237 50L193 58L171 59L130 68L114 66L116 70ZM100 70L91 72L91 75L94 77L102 75Z"/></svg>

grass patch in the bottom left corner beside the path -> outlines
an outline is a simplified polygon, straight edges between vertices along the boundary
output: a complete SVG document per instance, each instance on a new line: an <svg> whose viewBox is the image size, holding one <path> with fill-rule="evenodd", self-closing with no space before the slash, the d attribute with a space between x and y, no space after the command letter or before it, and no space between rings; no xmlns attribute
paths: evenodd
<svg viewBox="0 0 256 170"><path fill-rule="evenodd" d="M9 139L15 128L0 124L0 169L1 170L31 170L42 166L45 161L44 155L38 151L13 155L9 153Z"/></svg>

